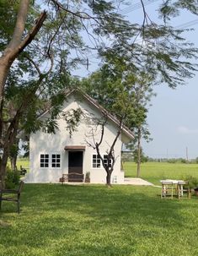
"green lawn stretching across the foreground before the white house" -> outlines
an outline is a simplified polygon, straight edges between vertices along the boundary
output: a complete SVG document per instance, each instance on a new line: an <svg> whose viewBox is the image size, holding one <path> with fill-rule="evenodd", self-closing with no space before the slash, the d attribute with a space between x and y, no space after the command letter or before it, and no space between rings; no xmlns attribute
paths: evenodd
<svg viewBox="0 0 198 256"><path fill-rule="evenodd" d="M163 173L158 168L142 175L158 182L152 177ZM198 198L160 199L159 193L139 186L25 184L19 215L3 202L0 256L198 255Z"/></svg>

